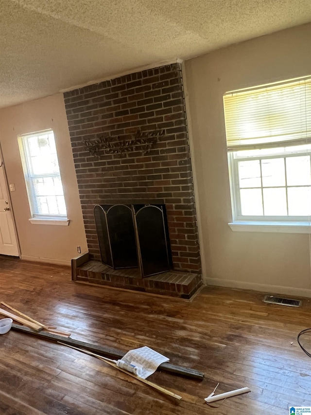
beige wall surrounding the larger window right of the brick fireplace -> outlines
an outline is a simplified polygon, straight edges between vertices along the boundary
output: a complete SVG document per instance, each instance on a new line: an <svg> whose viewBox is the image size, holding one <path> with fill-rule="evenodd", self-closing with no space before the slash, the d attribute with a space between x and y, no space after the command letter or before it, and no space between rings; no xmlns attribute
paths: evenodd
<svg viewBox="0 0 311 415"><path fill-rule="evenodd" d="M207 283L311 296L310 238L233 232L223 94L311 74L311 24L185 63L193 163Z"/></svg>

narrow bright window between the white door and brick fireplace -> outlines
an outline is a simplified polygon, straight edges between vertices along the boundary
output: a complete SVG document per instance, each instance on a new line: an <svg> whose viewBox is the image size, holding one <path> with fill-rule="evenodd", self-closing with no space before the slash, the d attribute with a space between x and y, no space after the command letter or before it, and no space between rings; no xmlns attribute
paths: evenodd
<svg viewBox="0 0 311 415"><path fill-rule="evenodd" d="M67 219L52 130L18 137L32 217Z"/></svg>

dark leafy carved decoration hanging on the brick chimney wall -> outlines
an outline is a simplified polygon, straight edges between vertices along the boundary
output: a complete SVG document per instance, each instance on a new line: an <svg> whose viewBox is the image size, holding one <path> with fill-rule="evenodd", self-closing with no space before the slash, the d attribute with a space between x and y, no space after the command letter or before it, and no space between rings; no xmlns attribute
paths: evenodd
<svg viewBox="0 0 311 415"><path fill-rule="evenodd" d="M126 153L134 150L140 150L146 155L159 141L159 137L164 134L164 130L157 131L137 131L133 135L122 138L122 136L112 137L110 135L100 136L95 139L84 139L84 148L92 156L100 158L105 154L117 154L118 157L124 157Z"/></svg>

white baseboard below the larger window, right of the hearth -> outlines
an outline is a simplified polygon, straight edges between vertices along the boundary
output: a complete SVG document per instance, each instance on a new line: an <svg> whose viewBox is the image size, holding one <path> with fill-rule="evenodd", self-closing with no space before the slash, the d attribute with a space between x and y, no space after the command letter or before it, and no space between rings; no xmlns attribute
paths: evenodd
<svg viewBox="0 0 311 415"><path fill-rule="evenodd" d="M222 278L206 278L204 283L208 285L215 285L218 287L238 288L238 289L252 289L254 291L262 291L271 294L287 294L298 297L311 297L311 289L282 287L279 285L257 284L246 281L225 280Z"/></svg>

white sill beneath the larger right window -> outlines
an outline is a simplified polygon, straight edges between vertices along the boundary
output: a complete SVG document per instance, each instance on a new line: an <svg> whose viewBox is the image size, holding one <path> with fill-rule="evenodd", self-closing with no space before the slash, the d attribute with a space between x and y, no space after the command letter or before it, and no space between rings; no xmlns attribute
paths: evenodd
<svg viewBox="0 0 311 415"><path fill-rule="evenodd" d="M234 232L311 234L311 222L236 221L228 223L228 225Z"/></svg>

